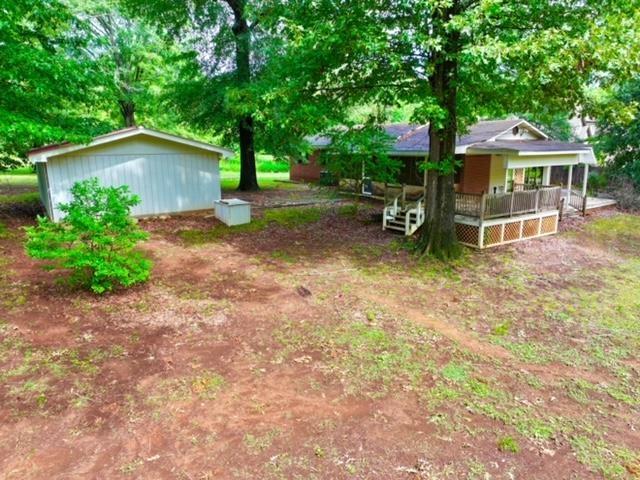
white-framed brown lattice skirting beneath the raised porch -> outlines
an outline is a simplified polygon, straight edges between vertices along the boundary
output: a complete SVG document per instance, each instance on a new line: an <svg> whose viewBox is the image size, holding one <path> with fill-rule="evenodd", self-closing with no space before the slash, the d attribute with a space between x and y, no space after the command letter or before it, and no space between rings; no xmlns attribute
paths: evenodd
<svg viewBox="0 0 640 480"><path fill-rule="evenodd" d="M485 221L456 217L458 242L473 248L494 247L529 238L552 235L558 231L558 212L541 212L519 217Z"/></svg>

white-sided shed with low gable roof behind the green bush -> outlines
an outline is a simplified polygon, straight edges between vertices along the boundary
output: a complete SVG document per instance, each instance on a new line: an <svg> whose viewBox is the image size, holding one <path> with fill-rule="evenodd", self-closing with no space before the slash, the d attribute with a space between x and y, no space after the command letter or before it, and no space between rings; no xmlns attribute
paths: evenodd
<svg viewBox="0 0 640 480"><path fill-rule="evenodd" d="M54 221L71 200L74 183L96 177L102 185L128 185L140 197L135 216L213 209L220 199L219 161L233 152L144 127L96 137L87 145L60 144L29 152L40 197Z"/></svg>

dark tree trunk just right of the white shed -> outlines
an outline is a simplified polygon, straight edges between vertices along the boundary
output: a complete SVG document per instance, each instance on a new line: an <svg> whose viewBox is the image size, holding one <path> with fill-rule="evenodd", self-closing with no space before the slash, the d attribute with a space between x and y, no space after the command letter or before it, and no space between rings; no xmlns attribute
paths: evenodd
<svg viewBox="0 0 640 480"><path fill-rule="evenodd" d="M251 81L251 33L244 16L245 0L227 0L227 3L234 15L232 30L236 44L236 76L239 84L248 84ZM249 114L239 119L240 184L238 190L242 191L259 189L253 133L253 117Z"/></svg>

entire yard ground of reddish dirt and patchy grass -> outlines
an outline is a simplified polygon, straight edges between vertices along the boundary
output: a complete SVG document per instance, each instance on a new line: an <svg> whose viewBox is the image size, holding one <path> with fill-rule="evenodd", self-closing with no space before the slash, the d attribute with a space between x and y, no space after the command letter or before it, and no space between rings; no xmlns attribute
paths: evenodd
<svg viewBox="0 0 640 480"><path fill-rule="evenodd" d="M103 297L0 220L0 478L640 478L640 218L442 265L377 210L144 220Z"/></svg>

